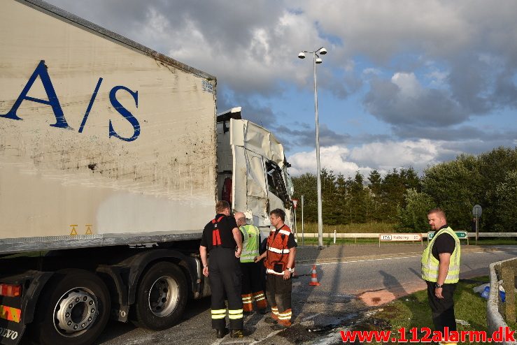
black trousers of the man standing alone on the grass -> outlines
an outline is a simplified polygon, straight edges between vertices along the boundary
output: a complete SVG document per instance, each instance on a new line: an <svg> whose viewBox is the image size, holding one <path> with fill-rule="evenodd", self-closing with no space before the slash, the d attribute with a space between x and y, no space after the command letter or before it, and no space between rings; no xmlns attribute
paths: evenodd
<svg viewBox="0 0 517 345"><path fill-rule="evenodd" d="M441 295L444 296L444 298L439 299L434 295L434 284L436 283L432 281L426 281L426 283L427 298L429 300L429 306L431 307L434 330L439 330L442 334L445 327L448 327L449 332L456 330L453 297L457 284L444 284L441 291Z"/></svg>

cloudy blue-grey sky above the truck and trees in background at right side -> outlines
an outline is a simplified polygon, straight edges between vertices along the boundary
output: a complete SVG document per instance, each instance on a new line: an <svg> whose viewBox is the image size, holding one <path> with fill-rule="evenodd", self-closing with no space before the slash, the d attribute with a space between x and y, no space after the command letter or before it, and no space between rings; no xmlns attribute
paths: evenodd
<svg viewBox="0 0 517 345"><path fill-rule="evenodd" d="M273 131L291 173L367 175L517 145L513 0L48 0L218 78L218 111Z"/></svg>

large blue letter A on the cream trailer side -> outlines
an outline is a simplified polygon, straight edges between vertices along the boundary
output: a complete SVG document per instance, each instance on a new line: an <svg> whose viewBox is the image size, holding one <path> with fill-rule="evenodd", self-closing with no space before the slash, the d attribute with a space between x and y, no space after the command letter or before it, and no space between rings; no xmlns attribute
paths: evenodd
<svg viewBox="0 0 517 345"><path fill-rule="evenodd" d="M29 97L27 94L29 93L29 90L31 89L32 85L36 81L36 78L41 79L41 82L43 83L43 87L45 88L45 92L48 96L48 101L45 101L44 99L40 98L34 98ZM31 78L29 78L29 81L27 82L27 85L22 90L22 93L20 96L18 96L17 100L15 101L13 108L9 110L9 112L6 115L0 115L0 117L7 117L8 119L15 119L15 120L21 120L20 117L16 115L16 112L18 108L20 108L20 105L22 104L22 101L33 101L38 103L43 103L46 105L50 105L52 107L52 110L54 111L54 115L56 117L56 123L51 124L52 127L59 127L62 129L71 129L70 126L66 123L66 119L64 118L63 110L61 109L61 105L59 104L59 99L57 99L56 91L54 90L54 87L52 86L52 82L50 81L50 76L47 72L47 66L45 66L45 61L41 60L39 61L38 66L36 67L36 70L34 70L34 73L32 73Z"/></svg>

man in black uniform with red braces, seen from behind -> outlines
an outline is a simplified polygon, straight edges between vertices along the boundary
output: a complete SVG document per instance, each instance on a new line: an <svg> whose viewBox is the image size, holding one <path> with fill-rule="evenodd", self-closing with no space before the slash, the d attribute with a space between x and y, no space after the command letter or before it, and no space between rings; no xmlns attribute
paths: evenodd
<svg viewBox="0 0 517 345"><path fill-rule="evenodd" d="M243 337L243 309L241 299L241 267L239 257L242 252L242 233L234 217L229 216L229 203L221 200L215 205L217 214L206 224L201 237L199 253L203 262L203 274L210 276L212 292L212 328L217 337L225 337L226 306L228 299L229 328L231 337ZM206 253L210 253L210 265Z"/></svg>

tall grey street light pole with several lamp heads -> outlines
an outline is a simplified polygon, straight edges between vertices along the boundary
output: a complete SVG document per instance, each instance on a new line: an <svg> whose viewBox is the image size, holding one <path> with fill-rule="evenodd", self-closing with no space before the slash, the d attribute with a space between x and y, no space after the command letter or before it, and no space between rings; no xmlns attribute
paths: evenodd
<svg viewBox="0 0 517 345"><path fill-rule="evenodd" d="M298 54L300 59L305 59L304 50ZM323 216L322 216L322 202L321 202L321 166L320 166L320 125L318 122L318 81L316 79L316 64L321 64L323 60L319 57L318 52L322 55L327 54L324 47L315 50L314 52L307 52L313 54L314 66L314 120L316 122L316 178L318 187L318 247L323 249Z"/></svg>

